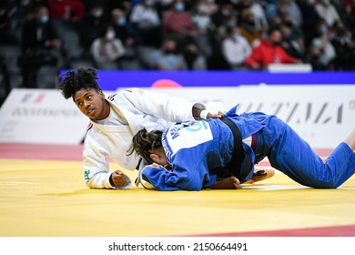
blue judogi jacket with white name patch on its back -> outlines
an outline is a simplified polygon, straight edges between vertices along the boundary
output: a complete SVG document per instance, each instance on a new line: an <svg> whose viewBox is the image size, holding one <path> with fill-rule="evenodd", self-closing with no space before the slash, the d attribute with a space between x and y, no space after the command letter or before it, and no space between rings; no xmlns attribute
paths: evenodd
<svg viewBox="0 0 355 255"><path fill-rule="evenodd" d="M236 114L233 107L226 117L240 129L242 138L257 133L263 127L263 113ZM218 118L201 120L192 126L186 124L167 128L162 137L163 148L172 171L147 166L141 177L159 190L200 190L217 179L214 168L223 168L232 158L234 138L232 131ZM244 151L255 161L254 151L245 143ZM247 181L251 178L253 168Z"/></svg>

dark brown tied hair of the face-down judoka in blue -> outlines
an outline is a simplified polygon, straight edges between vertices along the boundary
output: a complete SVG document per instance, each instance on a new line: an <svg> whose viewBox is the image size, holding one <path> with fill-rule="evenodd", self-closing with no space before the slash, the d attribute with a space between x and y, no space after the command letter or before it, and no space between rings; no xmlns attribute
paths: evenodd
<svg viewBox="0 0 355 255"><path fill-rule="evenodd" d="M137 155L146 159L148 163L152 164L153 161L150 158L150 150L162 147L162 134L163 132L159 130L147 132L146 128L141 129L132 138L132 145L127 150L127 156L131 155L134 151L136 151Z"/></svg>

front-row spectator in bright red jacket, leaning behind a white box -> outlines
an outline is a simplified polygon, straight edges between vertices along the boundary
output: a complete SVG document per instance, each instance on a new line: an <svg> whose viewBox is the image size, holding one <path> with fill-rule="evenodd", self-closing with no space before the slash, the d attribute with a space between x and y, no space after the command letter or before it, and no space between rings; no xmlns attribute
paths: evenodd
<svg viewBox="0 0 355 255"><path fill-rule="evenodd" d="M271 27L268 36L261 39L258 46L254 46L250 56L246 59L245 65L250 69L264 69L269 64L296 64L300 60L289 56L280 46L282 34L279 27Z"/></svg>

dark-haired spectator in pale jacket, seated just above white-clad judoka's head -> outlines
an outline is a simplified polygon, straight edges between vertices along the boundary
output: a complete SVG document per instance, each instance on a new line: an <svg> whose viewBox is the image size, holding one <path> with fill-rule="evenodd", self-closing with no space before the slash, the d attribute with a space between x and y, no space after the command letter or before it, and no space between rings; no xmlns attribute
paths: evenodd
<svg viewBox="0 0 355 255"><path fill-rule="evenodd" d="M115 37L115 30L112 26L104 27L92 46L91 54L97 68L111 69L118 68L118 60L125 55L125 46L121 40Z"/></svg>

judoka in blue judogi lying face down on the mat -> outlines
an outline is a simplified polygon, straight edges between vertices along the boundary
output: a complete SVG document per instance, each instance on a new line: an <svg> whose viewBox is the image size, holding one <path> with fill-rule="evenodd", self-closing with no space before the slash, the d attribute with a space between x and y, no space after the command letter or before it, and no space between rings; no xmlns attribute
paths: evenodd
<svg viewBox="0 0 355 255"><path fill-rule="evenodd" d="M261 112L238 115L236 109L230 109L225 118L238 127L245 156L241 162L233 161L234 128L223 119L177 124L163 132L141 130L133 138L132 150L158 165L142 169L137 181L147 189L159 190L206 189L231 175L238 176L239 183L245 183L251 179L255 164L265 157L273 168L312 188L336 189L354 174L355 130L324 162L278 117Z"/></svg>

